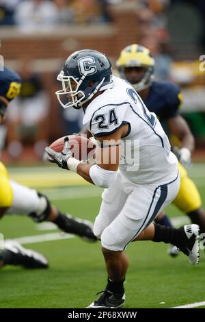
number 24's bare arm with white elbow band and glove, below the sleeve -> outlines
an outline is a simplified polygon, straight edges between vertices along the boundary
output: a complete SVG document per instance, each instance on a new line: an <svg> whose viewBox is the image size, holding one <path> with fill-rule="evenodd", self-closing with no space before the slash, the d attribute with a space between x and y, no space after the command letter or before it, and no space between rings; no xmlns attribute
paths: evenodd
<svg viewBox="0 0 205 322"><path fill-rule="evenodd" d="M98 136L100 144L96 148L96 164L83 164L72 157L68 137L64 142L64 150L61 153L55 152L46 147L48 160L56 163L62 169L78 173L96 186L109 188L115 181L120 162L120 140L126 136L128 125L120 126L113 134Z"/></svg>

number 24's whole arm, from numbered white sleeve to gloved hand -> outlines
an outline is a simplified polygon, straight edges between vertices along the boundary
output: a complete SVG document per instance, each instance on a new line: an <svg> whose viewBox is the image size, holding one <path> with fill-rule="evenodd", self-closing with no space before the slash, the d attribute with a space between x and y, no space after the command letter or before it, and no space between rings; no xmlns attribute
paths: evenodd
<svg viewBox="0 0 205 322"><path fill-rule="evenodd" d="M129 123L124 121L122 112L110 105L98 108L92 114L87 125L90 132L94 134L100 144L95 151L96 164L83 164L83 162L72 157L69 143L64 143L64 150L61 153L46 147L46 152L51 158L50 162L55 162L63 169L76 172L88 182L108 188L115 181L120 162L121 138L129 132ZM68 140L68 139L67 139Z"/></svg>

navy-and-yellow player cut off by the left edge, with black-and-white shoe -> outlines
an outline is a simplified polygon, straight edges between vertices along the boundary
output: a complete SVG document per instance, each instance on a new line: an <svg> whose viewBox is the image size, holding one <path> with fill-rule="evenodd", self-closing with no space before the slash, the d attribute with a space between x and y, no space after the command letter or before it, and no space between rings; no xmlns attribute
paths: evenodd
<svg viewBox="0 0 205 322"><path fill-rule="evenodd" d="M0 123L3 122L5 110L9 101L18 96L20 92L20 77L10 71L4 69L0 71ZM0 217L12 205L12 188L9 183L8 173L5 166L0 162ZM0 268L5 265L20 265L27 269L46 269L49 262L37 251L25 249L14 240L7 240L0 252Z"/></svg>

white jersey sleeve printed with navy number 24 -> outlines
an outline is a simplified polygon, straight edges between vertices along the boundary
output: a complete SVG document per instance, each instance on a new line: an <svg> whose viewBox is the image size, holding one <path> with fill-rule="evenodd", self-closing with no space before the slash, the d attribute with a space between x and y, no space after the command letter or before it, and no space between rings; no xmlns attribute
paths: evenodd
<svg viewBox="0 0 205 322"><path fill-rule="evenodd" d="M90 119L90 132L95 137L106 136L118 131L122 125L128 122L124 121L124 113L119 106L106 106L99 108L94 112Z"/></svg>

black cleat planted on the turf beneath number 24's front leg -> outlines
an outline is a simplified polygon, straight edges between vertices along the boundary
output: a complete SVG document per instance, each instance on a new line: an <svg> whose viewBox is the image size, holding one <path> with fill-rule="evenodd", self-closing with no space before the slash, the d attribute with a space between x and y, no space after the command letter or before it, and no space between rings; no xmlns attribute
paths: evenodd
<svg viewBox="0 0 205 322"><path fill-rule="evenodd" d="M102 290L102 295L92 302L87 308L121 308L125 300L125 293L113 293L109 290ZM99 293L97 293L98 295Z"/></svg>

